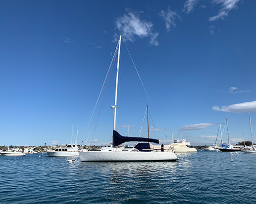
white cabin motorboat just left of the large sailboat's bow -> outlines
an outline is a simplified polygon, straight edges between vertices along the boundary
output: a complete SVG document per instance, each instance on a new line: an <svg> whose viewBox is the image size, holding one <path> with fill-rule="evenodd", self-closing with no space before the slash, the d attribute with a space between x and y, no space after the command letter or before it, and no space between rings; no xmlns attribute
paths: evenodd
<svg viewBox="0 0 256 204"><path fill-rule="evenodd" d="M46 151L49 157L79 157L77 144L68 144L64 147L57 147L54 150Z"/></svg>

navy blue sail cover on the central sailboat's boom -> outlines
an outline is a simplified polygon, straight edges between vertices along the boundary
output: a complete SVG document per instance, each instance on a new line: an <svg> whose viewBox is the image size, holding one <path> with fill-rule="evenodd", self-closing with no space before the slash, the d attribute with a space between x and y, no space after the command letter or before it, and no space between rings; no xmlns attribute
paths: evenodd
<svg viewBox="0 0 256 204"><path fill-rule="evenodd" d="M154 142L159 144L158 139L151 139L145 137L132 137L132 136L121 136L118 132L113 131L113 147L118 146L127 141L146 141L146 142Z"/></svg>

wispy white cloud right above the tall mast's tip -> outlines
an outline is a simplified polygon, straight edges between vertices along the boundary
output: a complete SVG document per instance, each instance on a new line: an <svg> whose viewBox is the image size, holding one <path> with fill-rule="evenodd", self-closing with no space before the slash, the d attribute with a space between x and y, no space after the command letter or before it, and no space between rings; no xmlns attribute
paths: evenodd
<svg viewBox="0 0 256 204"><path fill-rule="evenodd" d="M128 9L126 9L128 11ZM116 28L122 32L126 40L135 41L135 37L139 36L150 37L150 45L157 46L158 41L156 39L158 33L153 32L153 23L147 20L141 20L140 15L134 11L124 14L122 17L117 18Z"/></svg>

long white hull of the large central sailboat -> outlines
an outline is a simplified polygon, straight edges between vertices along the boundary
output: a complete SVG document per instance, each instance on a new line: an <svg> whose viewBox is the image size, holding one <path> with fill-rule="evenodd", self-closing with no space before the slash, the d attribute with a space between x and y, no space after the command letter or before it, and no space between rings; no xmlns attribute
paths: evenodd
<svg viewBox="0 0 256 204"><path fill-rule="evenodd" d="M81 162L147 162L176 161L173 152L122 152L122 151L84 151L80 154Z"/></svg>

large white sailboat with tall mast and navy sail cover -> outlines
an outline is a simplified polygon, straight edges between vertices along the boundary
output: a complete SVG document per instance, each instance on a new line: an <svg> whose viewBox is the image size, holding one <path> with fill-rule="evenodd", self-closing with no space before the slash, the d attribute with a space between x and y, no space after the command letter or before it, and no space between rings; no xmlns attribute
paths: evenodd
<svg viewBox="0 0 256 204"><path fill-rule="evenodd" d="M177 156L173 151L157 151L150 148L150 142L159 144L158 139L146 137L131 137L121 136L116 130L116 109L117 109L117 84L119 75L119 59L120 59L120 46L121 37L118 41L118 58L117 58L117 71L116 71L116 86L115 86L115 104L110 106L114 109L114 125L112 135L112 148L102 149L101 151L88 151L83 149L80 153L81 162L142 162L142 161L176 161ZM147 142L138 143L135 147L118 147L127 141Z"/></svg>

